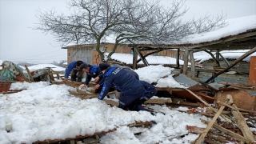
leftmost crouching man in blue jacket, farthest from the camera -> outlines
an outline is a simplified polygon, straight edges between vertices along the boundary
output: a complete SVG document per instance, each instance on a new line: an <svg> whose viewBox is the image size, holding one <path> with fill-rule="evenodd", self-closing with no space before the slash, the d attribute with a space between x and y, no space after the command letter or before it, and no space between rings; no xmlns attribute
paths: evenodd
<svg viewBox="0 0 256 144"><path fill-rule="evenodd" d="M66 82L67 78L69 78L69 75L71 75L71 81L82 82L83 72L82 70L80 70L80 65L82 64L87 64L87 63L82 61L70 62L70 64L66 67L65 76L64 76L65 78L62 80L62 82Z"/></svg>

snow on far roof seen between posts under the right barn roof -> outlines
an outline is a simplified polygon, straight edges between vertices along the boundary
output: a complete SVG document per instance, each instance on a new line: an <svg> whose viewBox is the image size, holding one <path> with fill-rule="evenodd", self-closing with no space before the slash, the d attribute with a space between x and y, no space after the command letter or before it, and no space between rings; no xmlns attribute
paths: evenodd
<svg viewBox="0 0 256 144"><path fill-rule="evenodd" d="M238 59L239 57L242 56L242 54L245 54L249 50L223 50L220 52L222 56L226 59ZM213 53L215 55L215 53ZM250 54L248 57L242 59L242 61L245 62L250 62L250 57L251 56L256 56L256 52L253 54ZM194 53L194 60L199 61L199 63L206 62L208 60L212 59L210 54L207 54L204 51L200 51L197 53ZM220 58L222 59L222 58Z"/></svg>

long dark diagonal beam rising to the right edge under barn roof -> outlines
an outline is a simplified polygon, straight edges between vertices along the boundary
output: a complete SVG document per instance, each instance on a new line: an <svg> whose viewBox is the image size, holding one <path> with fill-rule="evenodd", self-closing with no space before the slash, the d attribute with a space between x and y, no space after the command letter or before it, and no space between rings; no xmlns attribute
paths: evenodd
<svg viewBox="0 0 256 144"><path fill-rule="evenodd" d="M235 60L232 65L228 66L226 69L224 69L224 70L218 72L217 74L214 74L214 76L212 76L211 78L209 78L209 79L208 79L206 82L204 82L204 83L208 83L208 82L210 82L210 80L212 80L212 79L218 77L218 75L223 74L223 73L226 72L227 70L230 70L232 67L234 67L235 65L237 65L238 62L241 62L242 59L246 58L246 57L249 56L250 54L253 54L255 51L256 51L256 46L255 46L253 49L247 51L245 54L242 54L242 56L241 56L240 58L238 58L237 60Z"/></svg>

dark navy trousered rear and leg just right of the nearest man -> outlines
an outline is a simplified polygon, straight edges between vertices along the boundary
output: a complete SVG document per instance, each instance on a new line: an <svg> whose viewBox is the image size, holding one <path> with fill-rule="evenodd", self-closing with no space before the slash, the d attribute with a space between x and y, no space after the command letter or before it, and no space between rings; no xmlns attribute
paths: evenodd
<svg viewBox="0 0 256 144"><path fill-rule="evenodd" d="M145 81L139 81L139 82L142 83L142 86L145 89L144 94L141 98L138 98L137 100L135 100L130 104L130 106L128 107L129 110L136 110L136 111L145 110L142 104L147 100L149 100L150 98L152 98L158 92L158 90L155 89L154 85L151 85L150 83Z"/></svg>

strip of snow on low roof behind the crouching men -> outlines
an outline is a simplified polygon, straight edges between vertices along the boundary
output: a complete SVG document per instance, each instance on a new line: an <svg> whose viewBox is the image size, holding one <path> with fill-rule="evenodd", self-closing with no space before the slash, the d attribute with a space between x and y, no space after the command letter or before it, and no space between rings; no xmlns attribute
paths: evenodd
<svg viewBox="0 0 256 144"><path fill-rule="evenodd" d="M105 53L105 55L108 55L108 54L109 53ZM111 58L118 62L123 62L126 64L133 64L133 54L114 53L111 55ZM171 58L171 57L167 57L167 56L149 55L146 57L146 61L149 62L150 65L158 65L158 64L176 65L176 58ZM143 64L143 62L140 61L140 62L138 62L138 64ZM184 61L179 60L179 64L183 65ZM190 65L190 62L189 62L189 65Z"/></svg>

